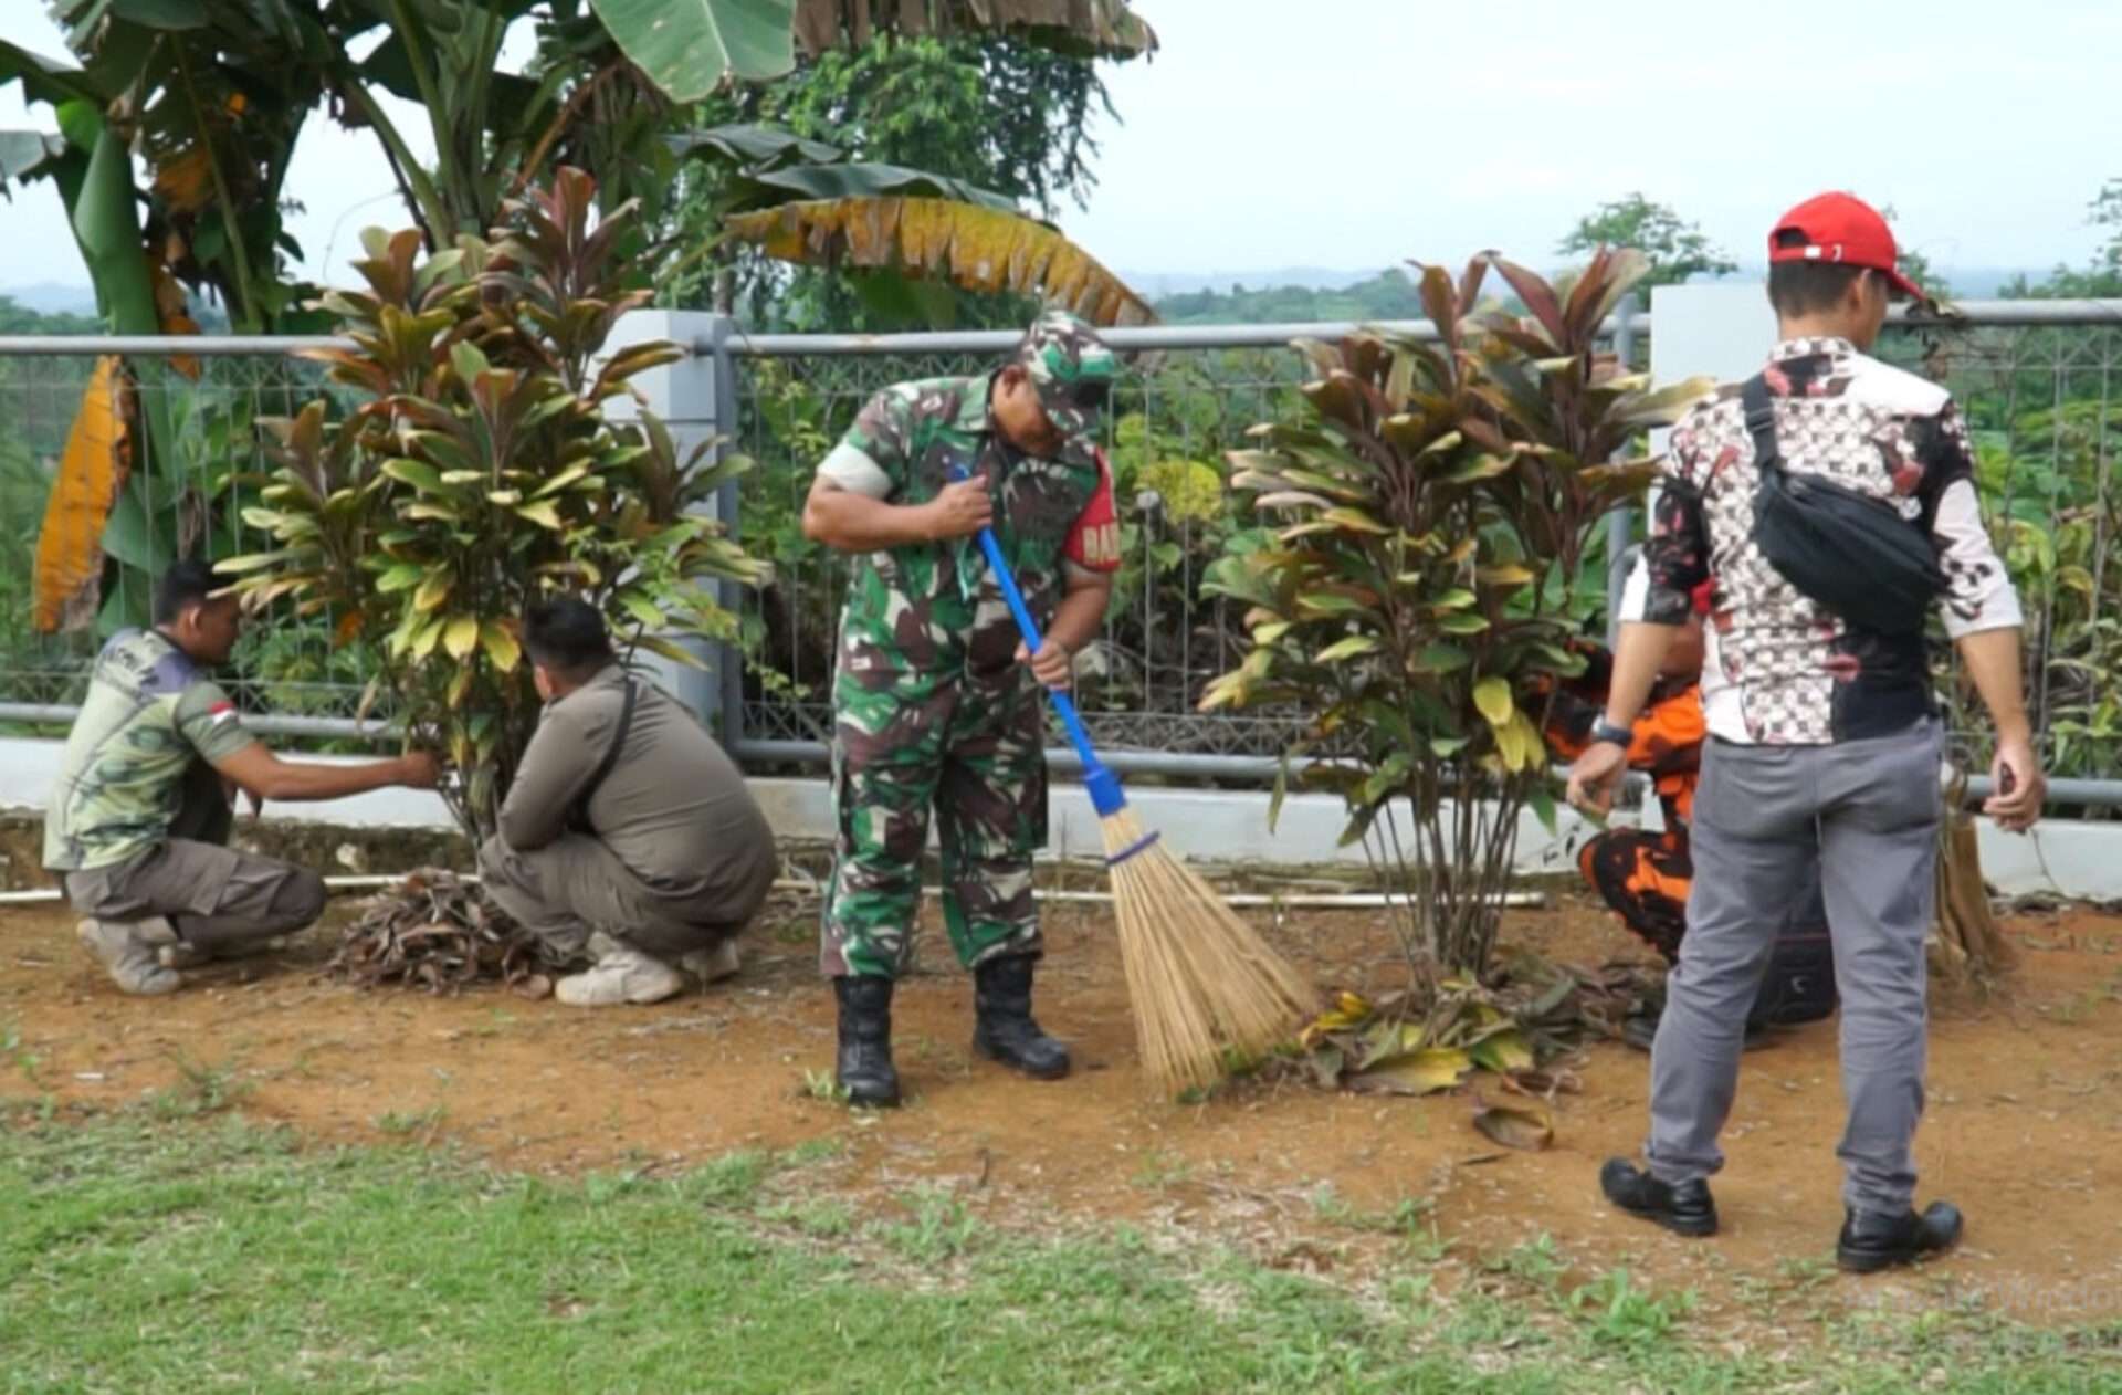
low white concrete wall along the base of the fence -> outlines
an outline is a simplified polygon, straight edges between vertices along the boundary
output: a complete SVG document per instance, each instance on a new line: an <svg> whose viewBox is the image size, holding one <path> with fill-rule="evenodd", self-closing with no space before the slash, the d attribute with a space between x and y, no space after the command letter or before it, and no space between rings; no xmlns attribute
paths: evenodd
<svg viewBox="0 0 2122 1395"><path fill-rule="evenodd" d="M0 809L42 809L59 769L57 741L0 739ZM832 803L821 779L751 781L775 832L787 839L832 837ZM1205 790L1133 790L1146 828L1195 862L1263 862L1280 866L1362 866L1362 847L1341 847L1347 817L1328 794L1292 794L1275 830L1267 828L1267 794ZM1655 809L1655 807L1653 807ZM265 805L265 817L344 824L354 828L450 828L441 800L416 790L376 790L314 805ZM1653 815L1655 817L1655 815ZM1050 803L1050 851L1103 854L1099 820L1082 786L1057 783ZM1405 832L1405 830L1403 830ZM2122 824L2041 824L2031 837L1999 832L1982 822L1982 871L2005 894L2056 892L2073 898L2122 898ZM1519 873L1568 873L1585 824L1562 811L1551 837L1530 813L1517 837Z"/></svg>

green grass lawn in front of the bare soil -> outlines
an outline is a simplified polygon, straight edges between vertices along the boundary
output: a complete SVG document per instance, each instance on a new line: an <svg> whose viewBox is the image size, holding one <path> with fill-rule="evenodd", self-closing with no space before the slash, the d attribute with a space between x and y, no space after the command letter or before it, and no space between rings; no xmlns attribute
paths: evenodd
<svg viewBox="0 0 2122 1395"><path fill-rule="evenodd" d="M949 1187L836 1195L830 1144L581 1181L303 1149L199 1074L214 1108L0 1106L0 1391L2122 1389L2114 1327L1946 1310L1734 1357L1685 1293L1566 1289L1545 1238L1451 1297L1420 1263L1337 1287L1212 1242L1023 1236Z"/></svg>

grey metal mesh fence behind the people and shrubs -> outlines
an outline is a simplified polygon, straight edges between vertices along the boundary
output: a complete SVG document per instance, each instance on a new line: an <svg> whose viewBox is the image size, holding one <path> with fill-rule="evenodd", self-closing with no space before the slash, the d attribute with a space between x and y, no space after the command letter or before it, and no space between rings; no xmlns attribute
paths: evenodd
<svg viewBox="0 0 2122 1395"><path fill-rule="evenodd" d="M987 340L966 352L779 340L734 355L734 408L721 429L758 461L743 480L738 531L777 563L775 584L741 599L736 716L747 739L830 735L847 563L802 537L813 467L885 384L985 372L997 352ZM2122 669L2122 565L2109 565L2109 552L2122 531L2114 478L2122 327L2088 312L2063 325L1891 329L1880 352L1961 401L1984 505L2027 603L2029 703L2052 769L2114 777L2122 699L2107 675ZM134 471L112 510L98 622L40 635L32 622L36 537L93 365L89 357L0 352L0 705L76 703L100 631L146 618L149 580L172 556L257 550L263 539L240 522L263 471L257 420L327 391L316 365L286 352L199 359L187 365L195 378L166 359L134 359L142 414L157 414L166 446ZM1222 488L1222 452L1256 423L1301 414L1301 380L1303 361L1286 346L1173 348L1140 359L1118 393L1106 448L1123 569L1080 679L1101 745L1210 758L1286 747L1297 713L1203 716L1197 703L1237 660L1243 635L1239 616L1203 590L1205 567L1246 529ZM713 416L707 403L673 406L681 420ZM344 720L367 675L331 645L329 616L295 622L278 612L250 626L231 677L253 711ZM1965 688L1952 694L1954 724L1978 747L1986 722Z"/></svg>

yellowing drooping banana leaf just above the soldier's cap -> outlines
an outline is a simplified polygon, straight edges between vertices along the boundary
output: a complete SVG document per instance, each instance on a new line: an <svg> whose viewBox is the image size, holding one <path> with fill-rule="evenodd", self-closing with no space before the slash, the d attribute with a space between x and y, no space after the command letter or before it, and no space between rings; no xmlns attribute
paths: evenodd
<svg viewBox="0 0 2122 1395"><path fill-rule="evenodd" d="M781 261L849 261L940 276L968 291L1027 291L1093 325L1156 318L1146 299L1080 246L1004 208L934 197L806 200L741 212L728 229Z"/></svg>

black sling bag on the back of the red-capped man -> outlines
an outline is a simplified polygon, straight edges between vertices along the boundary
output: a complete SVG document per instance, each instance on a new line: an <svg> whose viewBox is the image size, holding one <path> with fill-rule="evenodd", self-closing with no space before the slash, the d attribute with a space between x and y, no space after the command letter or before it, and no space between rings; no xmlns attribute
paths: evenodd
<svg viewBox="0 0 2122 1395"><path fill-rule="evenodd" d="M1761 482L1753 541L1782 578L1855 626L1914 635L1946 590L1925 529L1884 499L1785 469L1766 378L1740 391Z"/></svg>

